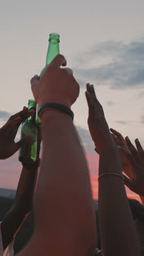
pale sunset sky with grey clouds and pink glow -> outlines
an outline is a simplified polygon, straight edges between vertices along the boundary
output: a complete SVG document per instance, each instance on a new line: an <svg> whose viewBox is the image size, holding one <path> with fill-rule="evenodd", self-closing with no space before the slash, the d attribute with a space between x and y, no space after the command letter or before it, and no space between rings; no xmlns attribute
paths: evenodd
<svg viewBox="0 0 144 256"><path fill-rule="evenodd" d="M30 79L41 72L49 34L60 35L60 53L81 92L72 110L98 198L99 156L87 126L85 84L93 83L109 127L144 146L144 2L141 0L2 0L0 125L33 99ZM17 140L20 137L18 132ZM0 187L17 188L18 153L1 161ZM137 195L127 190L127 195Z"/></svg>

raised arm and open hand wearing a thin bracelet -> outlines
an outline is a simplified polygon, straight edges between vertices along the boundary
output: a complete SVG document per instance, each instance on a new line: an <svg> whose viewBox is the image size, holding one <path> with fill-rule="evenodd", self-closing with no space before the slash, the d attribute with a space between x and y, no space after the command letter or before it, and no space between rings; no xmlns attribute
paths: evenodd
<svg viewBox="0 0 144 256"><path fill-rule="evenodd" d="M121 160L93 85L87 84L86 98L89 129L100 154L98 211L102 255L140 255L137 230L125 193Z"/></svg>

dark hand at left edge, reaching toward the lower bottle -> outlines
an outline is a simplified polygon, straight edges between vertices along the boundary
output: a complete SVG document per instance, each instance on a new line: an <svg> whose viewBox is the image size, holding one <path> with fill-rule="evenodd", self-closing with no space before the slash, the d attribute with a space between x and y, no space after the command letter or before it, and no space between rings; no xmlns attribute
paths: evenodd
<svg viewBox="0 0 144 256"><path fill-rule="evenodd" d="M0 129L0 159L9 158L17 152L21 146L31 140L31 136L27 136L17 143L14 142L20 124L33 114L34 110L28 110L28 108L23 107L23 110L11 116L7 123Z"/></svg>

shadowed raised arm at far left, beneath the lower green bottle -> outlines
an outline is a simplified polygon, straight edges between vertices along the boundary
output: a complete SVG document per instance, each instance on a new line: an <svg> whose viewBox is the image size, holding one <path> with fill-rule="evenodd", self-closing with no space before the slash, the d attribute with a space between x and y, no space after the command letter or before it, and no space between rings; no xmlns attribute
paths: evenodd
<svg viewBox="0 0 144 256"><path fill-rule="evenodd" d="M38 129L37 160L32 165L22 167L17 193L14 204L6 213L1 222L3 249L10 244L22 223L33 208L34 191L37 181L37 170L39 165L39 151L41 148L41 130Z"/></svg>

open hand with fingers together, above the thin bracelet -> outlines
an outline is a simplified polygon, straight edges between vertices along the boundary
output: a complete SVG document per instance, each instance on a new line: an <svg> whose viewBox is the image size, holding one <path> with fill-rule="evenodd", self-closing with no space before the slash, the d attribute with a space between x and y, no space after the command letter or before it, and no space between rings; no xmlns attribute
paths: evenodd
<svg viewBox="0 0 144 256"><path fill-rule="evenodd" d="M109 127L105 119L105 115L103 113L102 106L98 101L93 85L86 85L86 100L89 106L89 117L87 123L89 125L89 130L91 133L91 137L94 141L96 151L99 151L99 148L103 145L106 145L106 141L110 141L113 143L113 139L109 132Z"/></svg>

